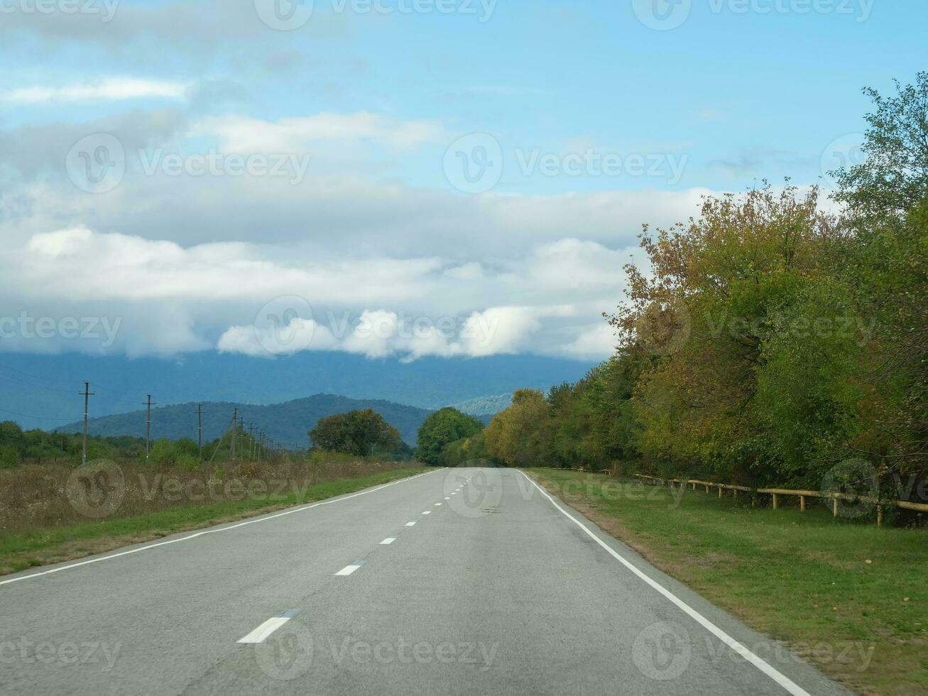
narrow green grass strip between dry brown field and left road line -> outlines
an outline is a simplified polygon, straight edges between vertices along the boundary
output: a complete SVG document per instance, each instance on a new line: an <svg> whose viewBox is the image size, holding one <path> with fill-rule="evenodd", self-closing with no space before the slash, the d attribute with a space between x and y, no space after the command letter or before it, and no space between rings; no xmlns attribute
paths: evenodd
<svg viewBox="0 0 928 696"><path fill-rule="evenodd" d="M2 532L0 574L15 573L47 563L69 561L219 522L231 522L300 503L342 496L368 486L406 478L424 470L381 470L325 483L289 486L278 495L274 494L273 489L268 489L266 495L260 496L242 496L241 499L209 502L187 501L186 504L179 501L180 504L141 514Z"/></svg>

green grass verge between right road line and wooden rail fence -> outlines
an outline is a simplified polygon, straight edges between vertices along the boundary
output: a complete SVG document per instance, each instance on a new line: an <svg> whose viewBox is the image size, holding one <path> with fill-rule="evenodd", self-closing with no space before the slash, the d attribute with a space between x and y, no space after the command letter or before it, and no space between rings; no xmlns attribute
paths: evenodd
<svg viewBox="0 0 928 696"><path fill-rule="evenodd" d="M602 529L850 690L928 693L928 532L529 470ZM604 483L609 482L609 485Z"/></svg>

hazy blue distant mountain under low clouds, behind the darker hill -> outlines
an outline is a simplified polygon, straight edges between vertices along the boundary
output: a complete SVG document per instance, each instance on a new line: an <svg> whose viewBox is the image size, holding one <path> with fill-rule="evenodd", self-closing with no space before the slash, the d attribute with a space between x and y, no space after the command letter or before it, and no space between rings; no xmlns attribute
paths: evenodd
<svg viewBox="0 0 928 696"><path fill-rule="evenodd" d="M91 417L197 402L279 404L311 394L383 399L433 409L522 387L548 389L582 377L592 363L537 355L368 360L345 353L275 359L214 352L172 359L0 353L0 420L52 430L83 418L84 381L96 395Z"/></svg>

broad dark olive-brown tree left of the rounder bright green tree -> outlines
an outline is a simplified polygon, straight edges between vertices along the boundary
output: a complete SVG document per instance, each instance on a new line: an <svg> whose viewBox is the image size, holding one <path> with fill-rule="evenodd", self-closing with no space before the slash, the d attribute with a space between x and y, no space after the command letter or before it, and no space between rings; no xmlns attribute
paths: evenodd
<svg viewBox="0 0 928 696"><path fill-rule="evenodd" d="M313 445L356 457L393 454L403 447L399 431L373 408L349 411L320 419L309 432Z"/></svg>

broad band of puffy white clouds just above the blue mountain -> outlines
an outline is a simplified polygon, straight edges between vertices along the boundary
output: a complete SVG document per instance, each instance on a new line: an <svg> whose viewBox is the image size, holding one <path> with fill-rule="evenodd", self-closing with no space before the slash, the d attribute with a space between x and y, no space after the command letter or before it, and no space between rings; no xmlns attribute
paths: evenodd
<svg viewBox="0 0 928 696"><path fill-rule="evenodd" d="M316 245L183 247L73 226L0 251L0 306L58 305L79 316L106 312L124 322L119 340L106 348L133 355L215 347L249 355L336 350L405 360L581 356L599 354L599 348L584 336L565 345L564 336L586 330L621 300L620 257L596 242L568 238L542 244L522 260L498 260L489 270L440 257L345 259L339 248ZM266 306L289 297L308 313L269 324Z"/></svg>

